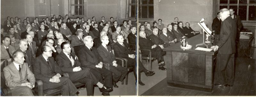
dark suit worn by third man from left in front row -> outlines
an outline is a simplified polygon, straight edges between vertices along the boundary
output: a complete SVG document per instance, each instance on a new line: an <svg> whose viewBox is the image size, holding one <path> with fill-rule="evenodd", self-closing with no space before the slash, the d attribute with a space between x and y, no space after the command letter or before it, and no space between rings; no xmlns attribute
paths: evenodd
<svg viewBox="0 0 256 97"><path fill-rule="evenodd" d="M97 79L89 69L83 69L81 71L73 71L75 67L81 67L81 63L78 61L78 58L71 54L72 59L74 60L74 65L70 61L69 56L64 54L63 51L60 52L58 56L56 56L56 62L60 67L62 73L68 73L69 79L72 82L80 82L85 84L87 96L93 96L93 84L97 84L99 79Z"/></svg>

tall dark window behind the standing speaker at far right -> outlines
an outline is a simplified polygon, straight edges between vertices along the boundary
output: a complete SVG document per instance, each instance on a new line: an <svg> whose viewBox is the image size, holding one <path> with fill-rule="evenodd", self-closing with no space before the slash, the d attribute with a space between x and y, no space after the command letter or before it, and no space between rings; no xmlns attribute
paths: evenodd
<svg viewBox="0 0 256 97"><path fill-rule="evenodd" d="M256 21L256 0L220 0L219 9L222 8L233 8L241 20Z"/></svg>

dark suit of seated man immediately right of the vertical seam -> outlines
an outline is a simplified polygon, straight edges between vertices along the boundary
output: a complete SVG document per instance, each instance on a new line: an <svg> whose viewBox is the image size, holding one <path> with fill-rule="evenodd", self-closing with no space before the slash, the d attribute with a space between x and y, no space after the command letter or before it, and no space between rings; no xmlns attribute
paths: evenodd
<svg viewBox="0 0 256 97"><path fill-rule="evenodd" d="M148 38L142 38L139 37L139 46L141 49L150 49L152 51L152 56L156 56L158 63L161 63L164 61L164 53L162 52L162 48L159 46L156 46L156 48L152 49L152 46L155 45L153 42L151 42ZM141 51L142 55L148 56L149 51Z"/></svg>

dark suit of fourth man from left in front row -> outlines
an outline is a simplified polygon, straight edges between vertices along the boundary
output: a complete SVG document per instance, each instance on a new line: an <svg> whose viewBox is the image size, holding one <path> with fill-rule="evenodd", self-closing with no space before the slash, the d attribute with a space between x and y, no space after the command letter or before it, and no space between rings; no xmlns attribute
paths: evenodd
<svg viewBox="0 0 256 97"><path fill-rule="evenodd" d="M87 48L85 45L79 50L78 53L79 61L82 63L82 68L89 68L90 71L100 79L100 83L104 83L105 86L113 87L112 85L112 73L111 71L104 68L104 66L100 68L96 68L100 62L103 63L102 58L100 57L96 48L92 47L92 51ZM104 77L104 82L103 78Z"/></svg>

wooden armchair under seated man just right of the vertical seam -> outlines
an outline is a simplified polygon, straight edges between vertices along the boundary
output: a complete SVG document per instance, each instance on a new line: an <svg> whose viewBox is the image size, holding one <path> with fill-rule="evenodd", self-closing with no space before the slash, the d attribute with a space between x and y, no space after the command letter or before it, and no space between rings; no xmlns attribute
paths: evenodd
<svg viewBox="0 0 256 97"><path fill-rule="evenodd" d="M140 47L140 46L138 46ZM142 63L142 60L146 60L147 61L147 66L148 66L148 61L149 61L149 64L150 64L150 68L149 70L152 71L152 60L156 60L156 57L152 57L152 51L150 49L140 49L140 58L141 58L141 63ZM143 55L143 51L149 51L149 54L148 55Z"/></svg>

